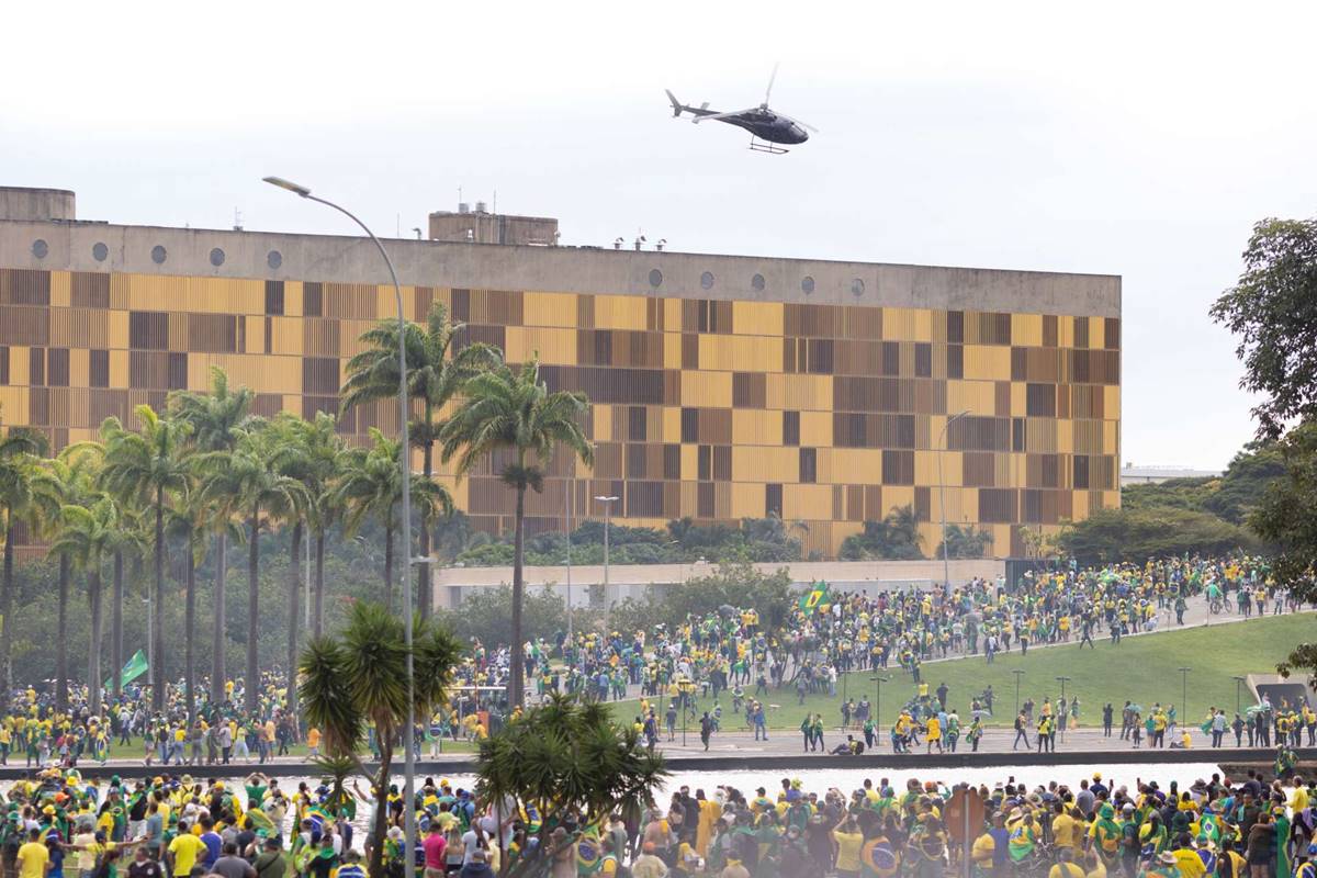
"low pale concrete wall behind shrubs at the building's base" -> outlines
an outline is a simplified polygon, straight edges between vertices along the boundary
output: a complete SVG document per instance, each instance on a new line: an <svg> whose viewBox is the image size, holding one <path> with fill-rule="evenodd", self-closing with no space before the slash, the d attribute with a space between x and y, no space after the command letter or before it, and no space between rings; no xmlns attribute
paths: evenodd
<svg viewBox="0 0 1317 878"><path fill-rule="evenodd" d="M940 561L824 561L795 562L788 565L759 563L763 573L774 573L786 567L797 584L824 581L834 588L877 594L878 591L914 584L927 587L940 582L943 567ZM1005 575L1006 562L990 558L948 562L951 582L967 582L973 578L994 579ZM682 587L686 581L707 577L716 571L711 563L668 563L668 565L610 565L608 595L616 603L627 598L643 598L649 586ZM568 569L525 567L528 588L552 586L564 598L568 596ZM456 607L471 591L511 584L511 567L440 567L432 579L436 607ZM574 566L570 571L572 606L582 607L589 602L589 588L603 583L602 565Z"/></svg>

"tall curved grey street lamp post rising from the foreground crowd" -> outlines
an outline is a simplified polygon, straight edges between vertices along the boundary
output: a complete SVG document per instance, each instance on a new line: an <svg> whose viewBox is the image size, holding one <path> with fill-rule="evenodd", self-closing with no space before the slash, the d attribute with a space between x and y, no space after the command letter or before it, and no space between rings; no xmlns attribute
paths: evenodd
<svg viewBox="0 0 1317 878"><path fill-rule="evenodd" d="M292 183L283 179L282 176L266 176L265 182L270 186L278 186L281 190L287 190L294 195L304 197L309 201L317 201L328 208L338 211L345 217L356 222L366 237L371 240L375 249L379 250L379 255L385 259L385 265L389 267L389 278L394 284L394 301L398 305L398 441L400 445L399 452L399 467L402 469L402 515L403 515L403 557L411 558L411 442L407 436L407 315L403 312L403 288L398 283L398 272L394 270L394 261L389 258L389 251L385 250L385 245L379 242L375 233L370 228L357 219L346 208L342 208L333 201L317 197L311 194L311 190L306 186ZM404 753L404 787L403 787L403 800L407 807L403 810L406 815L406 839L404 850L407 856L403 857L403 874L404 878L415 878L416 862L412 857L412 850L416 848L416 808L411 807L415 799L415 786L416 786L416 756L414 753L414 738L416 735L416 673L412 665L412 583L411 583L411 565L402 565L402 578L403 578L403 632L407 644L407 736ZM377 815L379 816L379 815ZM383 819L379 816L379 819Z"/></svg>

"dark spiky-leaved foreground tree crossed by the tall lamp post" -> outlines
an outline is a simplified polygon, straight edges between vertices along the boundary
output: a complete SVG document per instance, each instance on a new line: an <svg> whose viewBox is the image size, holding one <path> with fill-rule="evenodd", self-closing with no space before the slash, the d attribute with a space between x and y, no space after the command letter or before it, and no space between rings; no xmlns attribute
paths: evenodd
<svg viewBox="0 0 1317 878"><path fill-rule="evenodd" d="M412 629L415 716L425 721L448 702L461 644L431 620ZM375 821L370 827L369 874L382 875L385 815L394 745L407 728L407 644L403 620L387 607L358 600L348 623L333 637L311 638L302 653L299 694L307 721L324 735L325 753L352 758L375 788ZM358 746L370 723L379 746L379 766L367 770Z"/></svg>

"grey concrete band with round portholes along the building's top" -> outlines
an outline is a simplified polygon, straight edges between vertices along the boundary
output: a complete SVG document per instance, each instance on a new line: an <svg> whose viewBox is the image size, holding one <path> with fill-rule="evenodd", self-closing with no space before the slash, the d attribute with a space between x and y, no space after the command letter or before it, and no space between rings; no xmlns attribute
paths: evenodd
<svg viewBox="0 0 1317 878"><path fill-rule="evenodd" d="M37 238L49 245L43 258L33 253ZM108 249L103 261L94 257L97 244ZM151 258L157 246L165 247L163 262ZM386 246L404 284L1098 317L1121 313L1121 279L1110 275L412 240L391 240ZM224 253L220 266L211 262L216 247ZM91 222L0 222L0 265L387 283L367 238ZM807 280L813 282L810 294L805 292Z"/></svg>

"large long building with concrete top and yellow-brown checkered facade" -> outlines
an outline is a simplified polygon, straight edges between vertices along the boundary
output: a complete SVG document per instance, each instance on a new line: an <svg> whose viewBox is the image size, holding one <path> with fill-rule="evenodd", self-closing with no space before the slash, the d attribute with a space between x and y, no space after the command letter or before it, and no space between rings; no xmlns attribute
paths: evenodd
<svg viewBox="0 0 1317 878"><path fill-rule="evenodd" d="M947 521L988 529L1001 557L1023 553L1023 527L1119 503L1119 278L387 246L410 319L444 303L470 341L539 354L552 387L593 400L594 470L556 462L533 530L615 495L628 524L777 515L832 557L910 507L932 554L944 494ZM337 411L358 336L394 313L365 238L86 222L71 194L0 190L0 417L57 448L205 388L215 366L262 413ZM395 411L341 429L390 432ZM510 527L489 470L454 491L481 527Z"/></svg>

